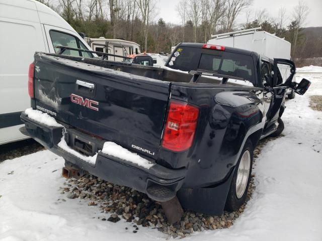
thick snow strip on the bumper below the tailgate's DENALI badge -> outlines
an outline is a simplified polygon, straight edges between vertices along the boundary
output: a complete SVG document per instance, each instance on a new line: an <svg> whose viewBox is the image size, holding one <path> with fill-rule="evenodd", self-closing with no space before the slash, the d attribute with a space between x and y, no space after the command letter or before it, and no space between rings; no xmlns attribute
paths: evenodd
<svg viewBox="0 0 322 241"><path fill-rule="evenodd" d="M132 162L146 169L149 169L152 166L154 166L154 164L150 161L140 157L136 153L130 152L129 150L117 145L114 142L105 142L102 153L120 158L128 162Z"/></svg>

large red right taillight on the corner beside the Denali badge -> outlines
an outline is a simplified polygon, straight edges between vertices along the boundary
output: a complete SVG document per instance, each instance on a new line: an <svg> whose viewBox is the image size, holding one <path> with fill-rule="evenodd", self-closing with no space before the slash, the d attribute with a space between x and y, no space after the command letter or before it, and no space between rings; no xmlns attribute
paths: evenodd
<svg viewBox="0 0 322 241"><path fill-rule="evenodd" d="M175 152L191 147L199 109L186 102L171 101L162 147Z"/></svg>

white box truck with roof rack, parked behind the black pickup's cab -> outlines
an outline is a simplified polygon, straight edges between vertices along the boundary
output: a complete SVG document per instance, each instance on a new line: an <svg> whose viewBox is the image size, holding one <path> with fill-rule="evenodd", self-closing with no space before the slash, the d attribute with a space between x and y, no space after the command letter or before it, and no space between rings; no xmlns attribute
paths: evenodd
<svg viewBox="0 0 322 241"><path fill-rule="evenodd" d="M212 35L207 44L222 45L238 49L245 49L259 53L261 56L270 59L290 59L291 43L266 31L259 31L261 28L246 29L230 33ZM289 69L280 66L283 79L289 76ZM288 98L295 97L293 90L287 93Z"/></svg>

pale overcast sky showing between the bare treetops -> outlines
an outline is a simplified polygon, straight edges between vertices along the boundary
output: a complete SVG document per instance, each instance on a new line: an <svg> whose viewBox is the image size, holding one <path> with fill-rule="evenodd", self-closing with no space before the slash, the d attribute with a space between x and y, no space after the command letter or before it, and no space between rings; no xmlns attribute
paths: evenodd
<svg viewBox="0 0 322 241"><path fill-rule="evenodd" d="M156 0L156 16L154 21L159 18L163 18L167 23L180 24L180 16L176 9L180 0ZM254 0L251 9L254 11L261 8L266 8L267 12L272 17L278 16L278 10L280 7L285 7L287 16L290 16L293 8L297 5L296 0ZM305 3L310 9L310 13L307 17L307 23L305 27L322 27L322 0L306 0ZM241 15L236 24L246 22L245 14ZM289 20L287 21L287 23Z"/></svg>

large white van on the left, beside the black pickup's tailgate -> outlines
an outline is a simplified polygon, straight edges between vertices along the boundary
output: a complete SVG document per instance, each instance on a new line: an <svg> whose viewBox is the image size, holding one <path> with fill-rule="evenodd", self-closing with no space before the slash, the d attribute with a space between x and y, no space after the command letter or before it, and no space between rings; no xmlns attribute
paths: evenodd
<svg viewBox="0 0 322 241"><path fill-rule="evenodd" d="M35 51L55 53L63 45L90 49L57 13L34 0L0 0L0 145L26 139L20 113L30 107L28 69ZM65 50L64 55L92 57Z"/></svg>

